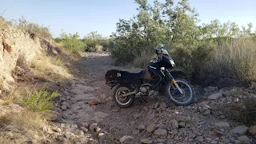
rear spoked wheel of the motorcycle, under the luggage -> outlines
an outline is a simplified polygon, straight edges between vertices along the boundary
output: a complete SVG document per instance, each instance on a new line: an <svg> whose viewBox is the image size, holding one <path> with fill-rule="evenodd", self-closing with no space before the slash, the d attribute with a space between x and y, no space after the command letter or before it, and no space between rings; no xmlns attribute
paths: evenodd
<svg viewBox="0 0 256 144"><path fill-rule="evenodd" d="M114 103L122 108L132 106L134 103L134 95L123 96L123 94L129 93L130 90L125 86L118 86L114 90Z"/></svg>

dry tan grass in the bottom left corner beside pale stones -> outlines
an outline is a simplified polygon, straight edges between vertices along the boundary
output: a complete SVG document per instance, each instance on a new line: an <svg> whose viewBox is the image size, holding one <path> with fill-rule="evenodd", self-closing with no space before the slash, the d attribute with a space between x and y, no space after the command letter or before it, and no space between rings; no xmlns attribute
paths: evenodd
<svg viewBox="0 0 256 144"><path fill-rule="evenodd" d="M42 127L47 126L42 114L30 110L10 113L0 117L0 142L22 143L30 139L35 141L42 137Z"/></svg>

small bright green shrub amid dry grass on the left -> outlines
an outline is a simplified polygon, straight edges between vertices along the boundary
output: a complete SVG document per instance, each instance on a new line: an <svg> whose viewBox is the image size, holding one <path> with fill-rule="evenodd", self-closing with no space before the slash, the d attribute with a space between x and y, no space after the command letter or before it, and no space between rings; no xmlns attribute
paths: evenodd
<svg viewBox="0 0 256 144"><path fill-rule="evenodd" d="M22 96L20 102L30 110L48 113L53 107L52 100L56 97L58 97L57 91L50 94L42 88L41 90L34 90L27 96Z"/></svg>

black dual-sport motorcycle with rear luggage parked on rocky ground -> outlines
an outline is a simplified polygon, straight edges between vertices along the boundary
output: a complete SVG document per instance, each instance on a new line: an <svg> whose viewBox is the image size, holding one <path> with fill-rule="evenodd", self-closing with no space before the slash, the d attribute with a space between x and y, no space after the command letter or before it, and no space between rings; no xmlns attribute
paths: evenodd
<svg viewBox="0 0 256 144"><path fill-rule="evenodd" d="M194 90L182 78L174 78L174 74L184 74L182 70L174 69L174 60L167 52L168 46L155 49L156 58L150 61L145 70L130 73L122 70L108 70L105 74L106 85L114 90L114 102L117 106L127 108L132 106L134 98L145 99L152 91L165 88L166 95L177 106L186 106L194 100Z"/></svg>

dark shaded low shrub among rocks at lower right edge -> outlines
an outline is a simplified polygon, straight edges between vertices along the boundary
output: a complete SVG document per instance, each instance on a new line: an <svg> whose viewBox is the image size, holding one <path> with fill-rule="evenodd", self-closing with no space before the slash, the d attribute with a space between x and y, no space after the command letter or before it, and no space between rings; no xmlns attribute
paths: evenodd
<svg viewBox="0 0 256 144"><path fill-rule="evenodd" d="M242 102L233 103L225 107L228 117L248 126L256 122L256 98L248 98Z"/></svg>

